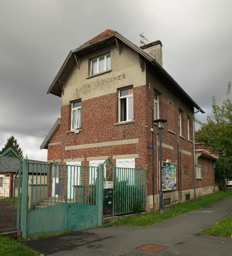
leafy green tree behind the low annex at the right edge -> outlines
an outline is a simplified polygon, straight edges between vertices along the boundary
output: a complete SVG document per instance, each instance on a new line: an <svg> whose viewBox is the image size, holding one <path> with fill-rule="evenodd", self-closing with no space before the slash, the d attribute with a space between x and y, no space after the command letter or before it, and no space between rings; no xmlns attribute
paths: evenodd
<svg viewBox="0 0 232 256"><path fill-rule="evenodd" d="M226 177L232 178L232 100L230 98L231 82L227 84L226 99L219 106L216 97L212 97L212 115L207 116L206 123L195 119L201 125L195 132L195 137L199 142L204 142L206 147L212 147L214 152L226 151L225 169ZM215 165L215 178L219 186L223 184L224 168L223 156Z"/></svg>

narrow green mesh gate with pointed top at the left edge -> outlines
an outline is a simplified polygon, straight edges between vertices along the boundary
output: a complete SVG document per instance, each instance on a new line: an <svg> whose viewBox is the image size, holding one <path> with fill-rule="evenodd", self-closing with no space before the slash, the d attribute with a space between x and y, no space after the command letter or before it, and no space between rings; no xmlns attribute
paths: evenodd
<svg viewBox="0 0 232 256"><path fill-rule="evenodd" d="M0 156L0 232L20 230L21 162L13 148Z"/></svg>

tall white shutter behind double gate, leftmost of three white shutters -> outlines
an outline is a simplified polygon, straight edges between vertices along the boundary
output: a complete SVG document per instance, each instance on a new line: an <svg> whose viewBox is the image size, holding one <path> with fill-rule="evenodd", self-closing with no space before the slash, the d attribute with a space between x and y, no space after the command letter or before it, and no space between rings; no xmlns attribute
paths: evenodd
<svg viewBox="0 0 232 256"><path fill-rule="evenodd" d="M67 162L68 166L68 200L73 199L74 186L81 184L81 161ZM79 167L76 167L79 166ZM71 193L71 194L70 194Z"/></svg>

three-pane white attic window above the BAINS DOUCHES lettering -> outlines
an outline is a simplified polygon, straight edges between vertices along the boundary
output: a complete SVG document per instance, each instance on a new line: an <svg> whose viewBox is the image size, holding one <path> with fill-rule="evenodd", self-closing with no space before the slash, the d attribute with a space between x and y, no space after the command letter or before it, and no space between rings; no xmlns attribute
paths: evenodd
<svg viewBox="0 0 232 256"><path fill-rule="evenodd" d="M109 69L111 69L111 54L107 54L91 60L91 76Z"/></svg>

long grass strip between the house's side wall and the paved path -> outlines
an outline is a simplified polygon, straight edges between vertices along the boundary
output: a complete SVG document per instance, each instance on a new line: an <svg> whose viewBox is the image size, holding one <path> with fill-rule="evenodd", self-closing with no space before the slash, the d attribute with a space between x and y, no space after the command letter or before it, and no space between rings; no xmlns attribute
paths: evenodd
<svg viewBox="0 0 232 256"><path fill-rule="evenodd" d="M146 213L146 214L132 215L123 219L119 219L113 223L105 224L104 226L111 226L111 225L149 226L154 223L169 219L171 217L184 214L186 212L193 211L199 208L203 208L207 205L216 203L228 197L232 197L232 189L228 189L226 194L224 194L224 191L219 191L214 194L197 197L189 201L164 207L163 213L159 213L159 211L155 211L155 212Z"/></svg>

